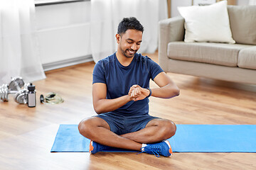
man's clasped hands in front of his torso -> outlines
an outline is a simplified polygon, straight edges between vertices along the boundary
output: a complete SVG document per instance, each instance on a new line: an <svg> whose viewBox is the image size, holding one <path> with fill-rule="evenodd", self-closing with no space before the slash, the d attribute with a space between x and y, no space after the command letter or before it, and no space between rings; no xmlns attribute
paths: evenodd
<svg viewBox="0 0 256 170"><path fill-rule="evenodd" d="M131 86L128 93L133 101L143 100L146 96L149 96L149 94L150 91L148 89L144 89L137 84Z"/></svg>

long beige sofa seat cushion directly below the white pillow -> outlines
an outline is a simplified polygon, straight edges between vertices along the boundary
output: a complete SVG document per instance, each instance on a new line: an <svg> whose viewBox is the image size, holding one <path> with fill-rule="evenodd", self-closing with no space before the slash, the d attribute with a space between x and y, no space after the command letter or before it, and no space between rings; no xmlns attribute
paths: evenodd
<svg viewBox="0 0 256 170"><path fill-rule="evenodd" d="M167 56L175 60L238 67L238 52L252 45L213 42L169 42Z"/></svg>

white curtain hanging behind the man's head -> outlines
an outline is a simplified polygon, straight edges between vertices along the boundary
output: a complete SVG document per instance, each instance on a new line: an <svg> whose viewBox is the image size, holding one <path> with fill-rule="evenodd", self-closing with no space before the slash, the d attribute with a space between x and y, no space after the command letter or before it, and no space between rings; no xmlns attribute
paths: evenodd
<svg viewBox="0 0 256 170"><path fill-rule="evenodd" d="M138 52L155 52L158 46L158 22L168 16L166 0L91 0L90 40L95 62L117 50L117 26L122 18L131 16L144 26Z"/></svg>

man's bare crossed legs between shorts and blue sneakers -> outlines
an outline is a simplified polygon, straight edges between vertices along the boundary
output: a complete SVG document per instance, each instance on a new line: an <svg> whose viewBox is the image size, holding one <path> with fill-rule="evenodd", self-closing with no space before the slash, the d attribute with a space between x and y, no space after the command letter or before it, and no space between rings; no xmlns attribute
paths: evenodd
<svg viewBox="0 0 256 170"><path fill-rule="evenodd" d="M161 142L175 135L176 125L171 120L153 119L137 132L117 135L102 118L92 117L82 120L78 125L81 135L109 147L140 150L142 144Z"/></svg>

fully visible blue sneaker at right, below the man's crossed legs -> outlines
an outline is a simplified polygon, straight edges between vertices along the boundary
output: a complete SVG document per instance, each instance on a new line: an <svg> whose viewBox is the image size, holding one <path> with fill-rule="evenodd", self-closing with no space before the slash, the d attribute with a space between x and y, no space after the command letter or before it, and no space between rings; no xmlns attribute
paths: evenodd
<svg viewBox="0 0 256 170"><path fill-rule="evenodd" d="M171 154L173 154L171 145L167 140L154 144L146 144L146 147L142 147L141 150L142 153L146 152L147 154L154 154L156 157L160 157L160 155L164 157L170 157Z"/></svg>

